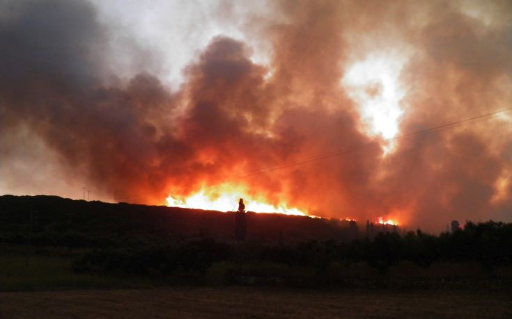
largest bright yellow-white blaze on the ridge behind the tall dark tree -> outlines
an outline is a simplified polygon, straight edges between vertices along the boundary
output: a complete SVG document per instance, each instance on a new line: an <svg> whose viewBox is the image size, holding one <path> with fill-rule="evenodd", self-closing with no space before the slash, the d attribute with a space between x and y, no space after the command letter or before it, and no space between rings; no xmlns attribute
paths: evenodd
<svg viewBox="0 0 512 319"><path fill-rule="evenodd" d="M166 202L167 206L173 207L208 209L213 211L236 211L238 209L238 199L240 198L244 199L246 211L301 216L308 215L297 208L288 208L284 203L274 206L272 204L266 204L261 199L254 199L247 194L236 191L232 193L222 193L222 195L207 195L204 190L200 190L188 197L173 197L169 195L169 197L166 198Z"/></svg>

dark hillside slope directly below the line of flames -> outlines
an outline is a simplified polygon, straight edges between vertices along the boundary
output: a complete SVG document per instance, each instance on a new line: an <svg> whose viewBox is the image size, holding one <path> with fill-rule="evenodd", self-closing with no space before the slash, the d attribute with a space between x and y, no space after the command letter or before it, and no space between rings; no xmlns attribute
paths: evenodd
<svg viewBox="0 0 512 319"><path fill-rule="evenodd" d="M208 237L234 240L235 213L140 204L110 204L56 196L0 196L0 238L26 243L30 234L42 245L102 245L102 241L183 240ZM334 220L247 213L247 240L286 243L346 240L357 235Z"/></svg>

